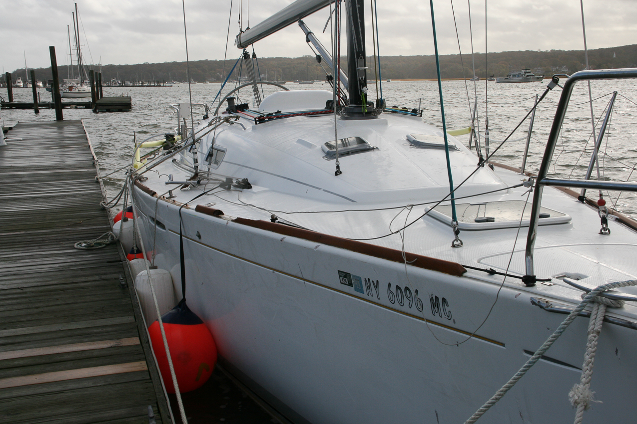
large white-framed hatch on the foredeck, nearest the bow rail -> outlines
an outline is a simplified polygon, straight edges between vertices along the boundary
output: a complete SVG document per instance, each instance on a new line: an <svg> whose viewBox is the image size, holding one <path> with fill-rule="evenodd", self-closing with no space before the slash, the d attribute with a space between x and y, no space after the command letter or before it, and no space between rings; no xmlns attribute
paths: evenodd
<svg viewBox="0 0 637 424"><path fill-rule="evenodd" d="M529 226L531 217L531 205L526 205L524 200L504 200L501 202L482 202L482 203L456 203L455 214L458 218L458 226L460 229L477 230L477 229L494 229L494 228L513 228L520 224L520 215L524 210L522 217L522 226ZM451 205L439 205L429 212L431 217L438 221L451 225ZM570 222L571 217L557 210L540 208L539 225L564 224Z"/></svg>

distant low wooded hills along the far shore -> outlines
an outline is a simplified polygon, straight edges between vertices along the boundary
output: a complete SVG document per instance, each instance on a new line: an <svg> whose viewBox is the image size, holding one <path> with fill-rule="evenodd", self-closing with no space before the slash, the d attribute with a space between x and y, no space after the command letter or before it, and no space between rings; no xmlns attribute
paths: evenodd
<svg viewBox="0 0 637 424"><path fill-rule="evenodd" d="M532 69L545 75L555 73L571 74L585 68L583 50L549 50L549 51L503 51L501 53L476 53L474 56L475 74L481 78L487 76L506 76L510 69ZM227 73L233 69L236 59L196 60L190 62L190 78L194 81L224 81ZM324 80L326 71L330 69L326 63L318 64L313 56L297 58L268 57L252 60L255 74L269 81ZM471 55L443 55L440 57L442 78L471 78ZM343 58L341 64L347 67ZM589 50L590 69L613 69L636 67L637 44L613 48ZM368 78L375 79L376 70L373 58L368 58ZM380 58L382 79L433 79L436 78L436 60L433 55L420 56L383 56ZM99 71L99 66L92 66ZM36 79L51 79L50 67L35 69ZM68 77L68 68L59 66L60 78ZM74 71L77 75L77 69ZM124 81L186 81L185 62L164 62L157 64L136 65L103 65L101 66L103 81L111 78ZM24 69L11 72L13 81L16 76L25 77ZM245 64L240 60L234 67L231 79L245 77ZM1 78L4 81L4 76Z"/></svg>

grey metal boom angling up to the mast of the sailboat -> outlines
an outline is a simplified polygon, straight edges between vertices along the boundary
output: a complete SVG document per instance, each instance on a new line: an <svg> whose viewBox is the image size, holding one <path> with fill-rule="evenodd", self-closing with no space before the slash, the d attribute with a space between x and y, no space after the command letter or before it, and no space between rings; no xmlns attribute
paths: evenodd
<svg viewBox="0 0 637 424"><path fill-rule="evenodd" d="M236 45L238 48L246 48L333 2L334 0L297 0L261 24L241 32L236 38Z"/></svg>

